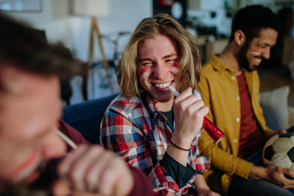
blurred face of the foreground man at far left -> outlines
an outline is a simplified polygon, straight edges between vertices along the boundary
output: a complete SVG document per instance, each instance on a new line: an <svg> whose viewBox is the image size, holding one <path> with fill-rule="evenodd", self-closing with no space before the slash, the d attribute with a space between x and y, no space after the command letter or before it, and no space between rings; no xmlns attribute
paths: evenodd
<svg viewBox="0 0 294 196"><path fill-rule="evenodd" d="M61 116L59 80L0 68L0 179L30 183L41 162L64 155L56 134Z"/></svg>

